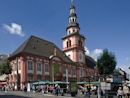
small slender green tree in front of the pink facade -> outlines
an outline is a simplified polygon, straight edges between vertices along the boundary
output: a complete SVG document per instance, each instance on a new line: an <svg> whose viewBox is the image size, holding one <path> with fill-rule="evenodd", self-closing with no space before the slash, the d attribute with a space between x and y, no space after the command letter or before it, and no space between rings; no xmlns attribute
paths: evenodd
<svg viewBox="0 0 130 98"><path fill-rule="evenodd" d="M61 77L61 72L60 72L60 65L58 63L52 65L50 75L54 76L54 80L59 80L59 77Z"/></svg>

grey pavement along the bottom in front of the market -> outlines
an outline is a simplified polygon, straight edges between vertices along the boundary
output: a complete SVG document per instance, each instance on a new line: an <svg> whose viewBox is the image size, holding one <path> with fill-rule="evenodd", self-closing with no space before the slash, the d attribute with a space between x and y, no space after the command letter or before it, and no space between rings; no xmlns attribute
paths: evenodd
<svg viewBox="0 0 130 98"><path fill-rule="evenodd" d="M8 91L7 93L0 91L0 98L88 98L84 95L77 95L76 97L71 97L70 94L64 94L64 96L55 96L52 94L42 94L42 93L32 93L23 91ZM92 95L90 98L97 98L96 95ZM117 98L114 96L113 98Z"/></svg>

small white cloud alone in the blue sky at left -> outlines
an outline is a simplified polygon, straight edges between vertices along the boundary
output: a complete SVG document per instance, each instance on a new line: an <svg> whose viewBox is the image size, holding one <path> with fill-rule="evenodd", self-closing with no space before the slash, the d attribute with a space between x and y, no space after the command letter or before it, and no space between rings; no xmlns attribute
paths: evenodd
<svg viewBox="0 0 130 98"><path fill-rule="evenodd" d="M8 31L10 34L17 34L19 36L24 36L22 32L22 27L19 24L11 23L11 26L8 26L6 24L3 25L3 28Z"/></svg>

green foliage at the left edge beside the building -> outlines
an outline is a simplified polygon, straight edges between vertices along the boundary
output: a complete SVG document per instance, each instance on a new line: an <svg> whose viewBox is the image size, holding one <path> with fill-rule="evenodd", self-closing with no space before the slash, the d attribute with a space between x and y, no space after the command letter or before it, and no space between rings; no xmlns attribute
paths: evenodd
<svg viewBox="0 0 130 98"><path fill-rule="evenodd" d="M0 75L2 74L11 74L12 67L9 60L5 60L3 64L0 65Z"/></svg>

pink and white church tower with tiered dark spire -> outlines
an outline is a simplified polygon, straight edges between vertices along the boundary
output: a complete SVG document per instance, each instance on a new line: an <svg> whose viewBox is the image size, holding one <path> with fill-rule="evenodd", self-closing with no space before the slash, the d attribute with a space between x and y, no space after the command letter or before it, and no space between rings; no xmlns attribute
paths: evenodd
<svg viewBox="0 0 130 98"><path fill-rule="evenodd" d="M69 24L66 28L67 35L62 38L63 52L70 57L73 62L85 64L85 37L80 34L80 27L77 23L75 6L70 6Z"/></svg>

